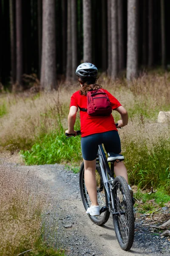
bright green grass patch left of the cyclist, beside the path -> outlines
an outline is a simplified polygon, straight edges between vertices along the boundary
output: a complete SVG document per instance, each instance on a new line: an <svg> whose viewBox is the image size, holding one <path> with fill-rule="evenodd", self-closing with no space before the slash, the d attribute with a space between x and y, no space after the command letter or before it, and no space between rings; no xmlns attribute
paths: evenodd
<svg viewBox="0 0 170 256"><path fill-rule="evenodd" d="M30 150L21 151L27 165L78 162L82 159L80 137L66 139L65 131L41 136Z"/></svg>

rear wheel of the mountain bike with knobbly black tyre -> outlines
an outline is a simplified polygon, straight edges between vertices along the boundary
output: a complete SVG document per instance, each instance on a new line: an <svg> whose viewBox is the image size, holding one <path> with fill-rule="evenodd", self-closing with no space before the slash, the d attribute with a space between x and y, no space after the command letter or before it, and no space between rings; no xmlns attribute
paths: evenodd
<svg viewBox="0 0 170 256"><path fill-rule="evenodd" d="M113 224L119 245L130 250L134 239L133 202L124 177L117 176L113 182Z"/></svg>

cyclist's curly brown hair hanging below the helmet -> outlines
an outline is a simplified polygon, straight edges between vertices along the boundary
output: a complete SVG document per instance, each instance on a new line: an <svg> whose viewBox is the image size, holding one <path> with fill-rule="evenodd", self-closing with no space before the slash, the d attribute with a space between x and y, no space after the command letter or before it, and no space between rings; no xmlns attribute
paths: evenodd
<svg viewBox="0 0 170 256"><path fill-rule="evenodd" d="M99 88L102 88L101 84L96 83L95 78L91 78L89 81L82 80L80 77L78 78L79 83L82 84L82 87L80 88L80 94L81 95L87 95L89 90L97 90Z"/></svg>

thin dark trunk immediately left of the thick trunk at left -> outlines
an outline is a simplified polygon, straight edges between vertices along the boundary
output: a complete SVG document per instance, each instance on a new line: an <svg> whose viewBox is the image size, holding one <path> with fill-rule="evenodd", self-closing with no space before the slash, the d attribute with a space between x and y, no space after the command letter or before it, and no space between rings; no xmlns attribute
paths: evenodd
<svg viewBox="0 0 170 256"><path fill-rule="evenodd" d="M42 0L38 0L38 74L40 77L41 68L41 51L42 51Z"/></svg>

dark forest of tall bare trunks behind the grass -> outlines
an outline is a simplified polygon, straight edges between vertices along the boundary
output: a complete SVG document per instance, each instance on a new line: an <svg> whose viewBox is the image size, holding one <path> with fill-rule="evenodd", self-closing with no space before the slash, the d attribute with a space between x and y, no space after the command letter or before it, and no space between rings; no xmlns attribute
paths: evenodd
<svg viewBox="0 0 170 256"><path fill-rule="evenodd" d="M169 9L168 0L0 0L1 87L57 89L86 61L112 79L168 70Z"/></svg>

